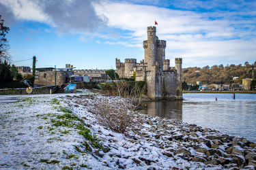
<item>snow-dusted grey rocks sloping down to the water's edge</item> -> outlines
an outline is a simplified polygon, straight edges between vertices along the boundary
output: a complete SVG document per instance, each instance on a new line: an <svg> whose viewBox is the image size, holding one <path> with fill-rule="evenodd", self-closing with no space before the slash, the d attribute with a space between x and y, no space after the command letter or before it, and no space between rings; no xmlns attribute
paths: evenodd
<svg viewBox="0 0 256 170"><path fill-rule="evenodd" d="M80 100L93 103L95 98ZM74 113L89 108L88 104L74 107L73 97L67 101ZM137 127L124 136L98 126L91 113L85 117L85 124L91 124L94 133L104 139L100 157L108 165L124 169L256 169L256 144L244 138L138 112L134 112Z"/></svg>

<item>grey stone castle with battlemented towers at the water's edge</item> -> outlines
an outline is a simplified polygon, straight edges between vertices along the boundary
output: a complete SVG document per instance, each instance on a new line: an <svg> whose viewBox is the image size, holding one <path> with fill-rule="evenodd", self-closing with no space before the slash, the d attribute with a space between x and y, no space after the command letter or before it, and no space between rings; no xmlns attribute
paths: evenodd
<svg viewBox="0 0 256 170"><path fill-rule="evenodd" d="M137 63L134 58L126 58L124 63L115 59L120 78L145 80L147 96L153 100L174 100L182 97L182 58L175 58L175 68L165 59L166 41L156 36L156 27L147 27L147 40L143 41L145 60Z"/></svg>

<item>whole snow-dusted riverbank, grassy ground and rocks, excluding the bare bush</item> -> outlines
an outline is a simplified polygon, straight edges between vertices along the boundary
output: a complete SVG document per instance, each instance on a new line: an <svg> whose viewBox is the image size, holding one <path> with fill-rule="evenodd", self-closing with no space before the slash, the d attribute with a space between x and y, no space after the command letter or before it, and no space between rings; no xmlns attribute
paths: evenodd
<svg viewBox="0 0 256 170"><path fill-rule="evenodd" d="M201 129L195 124L134 112L130 116L136 124L128 133L101 126L91 110L102 101L120 101L118 97L68 94L26 95L23 99L1 105L1 169L255 169L256 166L255 143L213 129Z"/></svg>

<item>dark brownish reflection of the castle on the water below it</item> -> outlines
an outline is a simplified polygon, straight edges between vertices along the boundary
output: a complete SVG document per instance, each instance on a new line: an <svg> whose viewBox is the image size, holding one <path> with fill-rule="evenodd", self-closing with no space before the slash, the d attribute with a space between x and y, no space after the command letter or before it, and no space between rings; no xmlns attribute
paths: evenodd
<svg viewBox="0 0 256 170"><path fill-rule="evenodd" d="M159 116L173 120L182 120L182 102L183 101L145 101L141 103L142 114L150 116Z"/></svg>

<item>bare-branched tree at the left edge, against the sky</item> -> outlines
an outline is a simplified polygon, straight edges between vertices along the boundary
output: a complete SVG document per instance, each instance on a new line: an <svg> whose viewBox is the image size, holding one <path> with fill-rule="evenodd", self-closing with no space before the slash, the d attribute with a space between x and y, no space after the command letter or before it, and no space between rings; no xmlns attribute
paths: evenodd
<svg viewBox="0 0 256 170"><path fill-rule="evenodd" d="M10 45L8 44L8 40L5 38L6 33L10 31L9 27L3 26L3 21L1 20L0 15L0 63L4 60L10 61L11 55L9 53Z"/></svg>

